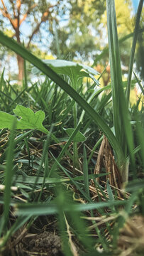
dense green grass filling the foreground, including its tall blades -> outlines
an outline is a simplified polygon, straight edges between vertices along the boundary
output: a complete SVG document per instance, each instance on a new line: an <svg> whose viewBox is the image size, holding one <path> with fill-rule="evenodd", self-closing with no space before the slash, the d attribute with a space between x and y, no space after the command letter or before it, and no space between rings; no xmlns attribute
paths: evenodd
<svg viewBox="0 0 144 256"><path fill-rule="evenodd" d="M115 6L107 1L111 84L104 88L96 82L83 84L82 79L69 85L70 75L60 75L0 32L1 43L45 74L44 82L28 86L25 65L21 90L1 74L1 111L13 120L4 127L0 112L1 255L19 255L16 245L23 255L26 250L28 255L46 253L45 242L41 249L35 241L33 248L28 243L32 234L40 240L45 230L47 237L60 236L57 253L63 255L123 255L123 250L126 255L143 255L144 234L138 229L144 214L142 97L136 105L129 102L133 82L143 95L139 78L131 80L142 6L140 1L128 82L123 82ZM18 112L18 105L27 108ZM35 122L32 129L32 118L24 123L16 119L23 117L23 110L31 112L28 107L45 113L43 126ZM51 238L56 248L55 235Z"/></svg>

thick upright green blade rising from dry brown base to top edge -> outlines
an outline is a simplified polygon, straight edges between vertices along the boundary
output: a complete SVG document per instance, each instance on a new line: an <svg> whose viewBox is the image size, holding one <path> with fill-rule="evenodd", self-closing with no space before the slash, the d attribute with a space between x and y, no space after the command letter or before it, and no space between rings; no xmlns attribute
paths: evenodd
<svg viewBox="0 0 144 256"><path fill-rule="evenodd" d="M126 142L131 156L133 171L135 171L135 159L133 156L133 134L129 122L128 106L123 92L123 82L121 77L121 59L118 46L118 35L116 27L116 11L114 0L106 1L107 23L109 36L109 57L111 65L111 87L113 100L113 122L116 138L123 148L126 157ZM126 141L125 141L126 140ZM123 181L125 181L125 168L122 171ZM135 176L135 174L134 174Z"/></svg>

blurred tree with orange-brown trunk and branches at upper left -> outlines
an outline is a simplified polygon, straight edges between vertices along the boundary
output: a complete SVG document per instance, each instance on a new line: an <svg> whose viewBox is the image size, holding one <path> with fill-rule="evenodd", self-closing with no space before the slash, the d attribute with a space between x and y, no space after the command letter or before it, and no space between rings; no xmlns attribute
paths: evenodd
<svg viewBox="0 0 144 256"><path fill-rule="evenodd" d="M1 0L1 14L4 16L3 28L4 26L11 25L13 31L13 38L16 38L18 43L23 43L28 48L31 44L31 41L36 41L36 35L40 33L40 28L43 26L43 23L47 23L46 26L50 26L52 19L57 15L57 10L60 6L60 1L57 1L56 4L51 4L50 1L34 1L34 0L9 0L4 3ZM7 23L9 21L9 23ZM26 39L23 37L21 27L26 21L27 33ZM26 24L25 23L25 24ZM45 28L46 28L45 26ZM48 31L48 28L45 29L45 32ZM39 35L42 38L42 35ZM40 41L40 37L39 37ZM18 61L18 80L23 79L23 58L17 55Z"/></svg>

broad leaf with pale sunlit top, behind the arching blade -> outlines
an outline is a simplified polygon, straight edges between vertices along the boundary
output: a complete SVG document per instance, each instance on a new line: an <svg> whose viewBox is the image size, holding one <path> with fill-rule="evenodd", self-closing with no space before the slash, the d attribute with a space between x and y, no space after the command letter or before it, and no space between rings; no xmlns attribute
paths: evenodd
<svg viewBox="0 0 144 256"><path fill-rule="evenodd" d="M72 61L67 60L43 60L53 71L55 71L59 75L68 75L72 85L73 83L77 83L79 78L92 78L97 85L99 85L99 81L94 78L94 75L99 75L99 73L94 70L94 68L90 68L87 65L82 65L81 63L74 63ZM40 71L38 68L33 68L32 73L38 74Z"/></svg>

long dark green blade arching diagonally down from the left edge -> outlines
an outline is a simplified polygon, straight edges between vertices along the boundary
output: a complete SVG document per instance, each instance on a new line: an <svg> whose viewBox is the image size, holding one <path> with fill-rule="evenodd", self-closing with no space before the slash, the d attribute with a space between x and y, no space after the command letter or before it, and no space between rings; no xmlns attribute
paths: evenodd
<svg viewBox="0 0 144 256"><path fill-rule="evenodd" d="M48 75L51 80L53 80L57 85L59 85L65 92L67 92L70 97L72 97L86 112L87 114L94 120L94 122L99 126L99 128L104 132L106 137L109 139L109 142L113 149L116 151L116 155L118 156L119 165L123 163L123 151L121 149L120 144L118 143L116 137L113 135L113 132L111 132L111 129L108 127L108 125L104 122L104 120L101 118L99 114L96 113L96 111L87 103L86 100L84 100L79 93L77 93L70 85L65 82L62 78L60 78L57 73L55 73L48 65L43 63L40 59L35 57L32 53L28 52L26 48L19 45L14 41L13 39L7 37L0 31L0 43L2 43L4 46L7 46L11 50L13 50L18 55L21 55L22 58L25 58L30 63L35 65L39 70L41 70L45 75Z"/></svg>

